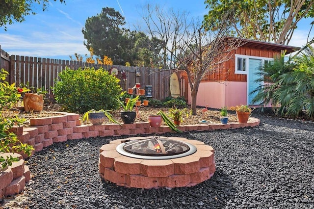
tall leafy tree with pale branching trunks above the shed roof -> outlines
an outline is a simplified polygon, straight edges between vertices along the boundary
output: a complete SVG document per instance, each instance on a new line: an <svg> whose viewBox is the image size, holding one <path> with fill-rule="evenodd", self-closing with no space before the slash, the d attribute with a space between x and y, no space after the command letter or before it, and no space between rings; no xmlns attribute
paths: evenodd
<svg viewBox="0 0 314 209"><path fill-rule="evenodd" d="M314 0L206 0L205 3L209 8L203 22L206 29L216 30L221 24L221 14L232 11L236 21L232 23L231 34L286 45L300 20L314 17Z"/></svg>

